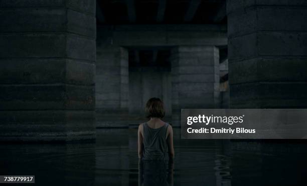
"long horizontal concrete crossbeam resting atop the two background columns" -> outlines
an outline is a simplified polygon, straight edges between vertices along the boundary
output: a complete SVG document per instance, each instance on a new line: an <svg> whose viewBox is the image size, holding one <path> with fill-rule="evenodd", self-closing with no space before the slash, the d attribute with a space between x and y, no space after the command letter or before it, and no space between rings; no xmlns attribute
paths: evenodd
<svg viewBox="0 0 307 186"><path fill-rule="evenodd" d="M223 25L116 25L99 26L113 45L125 47L227 45Z"/></svg>

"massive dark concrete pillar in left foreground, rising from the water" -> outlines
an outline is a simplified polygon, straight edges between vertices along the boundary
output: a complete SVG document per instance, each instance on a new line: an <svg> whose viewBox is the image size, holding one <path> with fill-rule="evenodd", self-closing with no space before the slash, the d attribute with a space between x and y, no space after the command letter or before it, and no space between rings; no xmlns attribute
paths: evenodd
<svg viewBox="0 0 307 186"><path fill-rule="evenodd" d="M95 3L0 2L1 141L95 138Z"/></svg>

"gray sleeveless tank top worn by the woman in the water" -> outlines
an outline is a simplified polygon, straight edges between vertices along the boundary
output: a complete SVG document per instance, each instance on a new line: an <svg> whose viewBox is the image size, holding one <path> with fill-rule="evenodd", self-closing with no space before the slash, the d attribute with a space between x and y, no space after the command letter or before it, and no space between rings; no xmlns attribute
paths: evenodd
<svg viewBox="0 0 307 186"><path fill-rule="evenodd" d="M144 160L166 160L169 158L166 141L168 127L168 123L156 129L150 128L147 123L143 124Z"/></svg>

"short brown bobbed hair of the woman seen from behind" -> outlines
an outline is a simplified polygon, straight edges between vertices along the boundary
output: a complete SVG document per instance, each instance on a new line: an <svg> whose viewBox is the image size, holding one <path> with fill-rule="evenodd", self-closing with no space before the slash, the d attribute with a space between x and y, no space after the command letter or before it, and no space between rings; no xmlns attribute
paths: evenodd
<svg viewBox="0 0 307 186"><path fill-rule="evenodd" d="M164 105L159 98L150 98L145 107L146 117L163 118L165 116Z"/></svg>

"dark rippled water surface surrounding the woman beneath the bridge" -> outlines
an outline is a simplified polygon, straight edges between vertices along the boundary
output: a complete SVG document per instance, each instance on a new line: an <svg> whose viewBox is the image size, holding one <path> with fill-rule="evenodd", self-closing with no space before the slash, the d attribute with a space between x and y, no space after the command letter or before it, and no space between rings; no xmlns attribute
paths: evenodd
<svg viewBox="0 0 307 186"><path fill-rule="evenodd" d="M37 185L307 185L307 143L174 133L174 163L139 163L136 129L98 129L96 143L1 144L0 174L35 175Z"/></svg>

